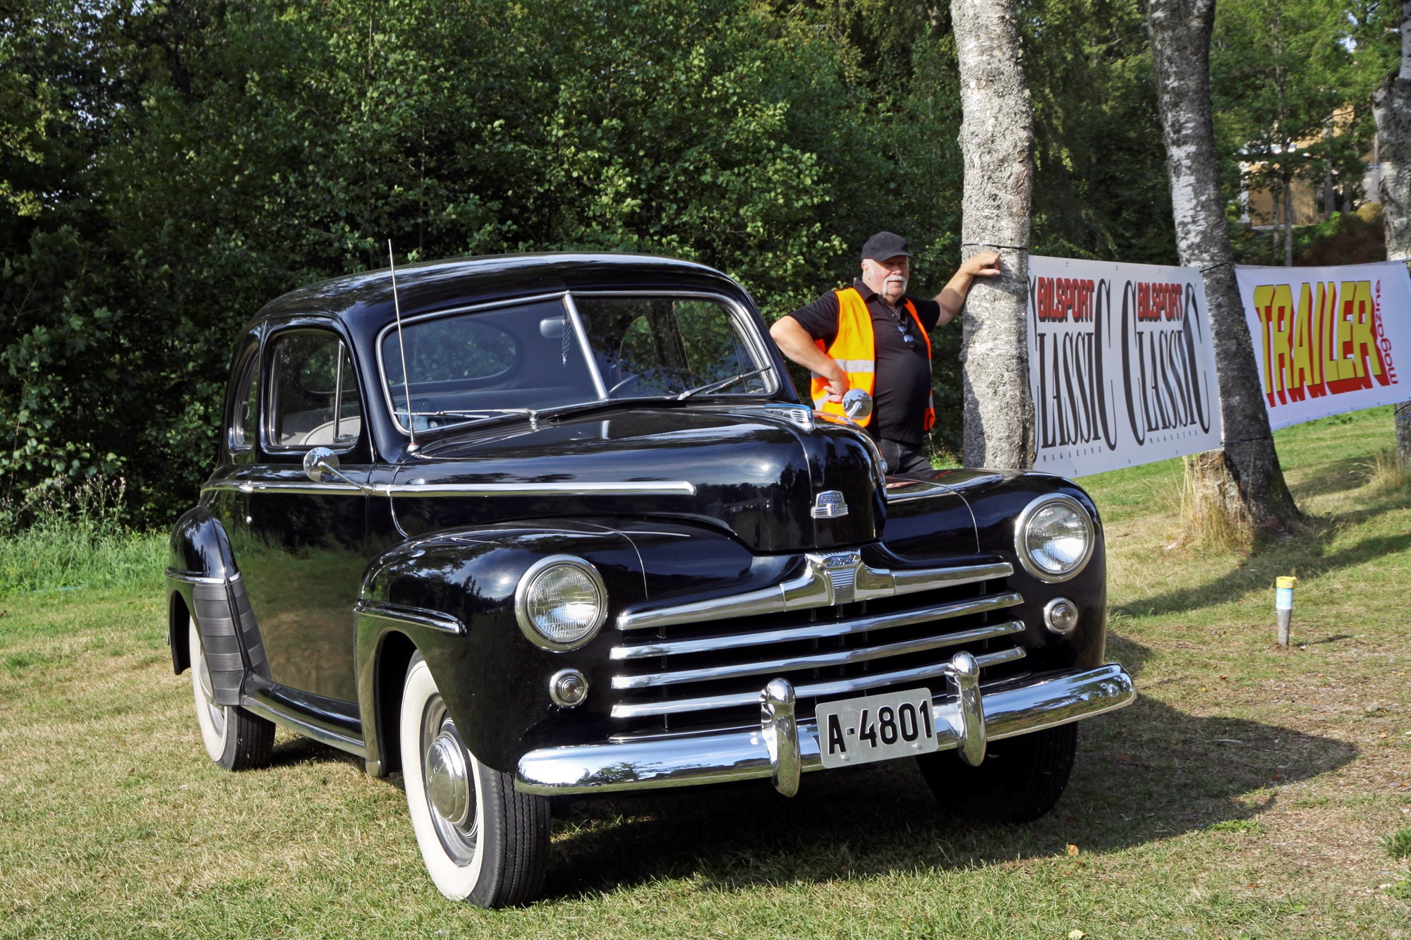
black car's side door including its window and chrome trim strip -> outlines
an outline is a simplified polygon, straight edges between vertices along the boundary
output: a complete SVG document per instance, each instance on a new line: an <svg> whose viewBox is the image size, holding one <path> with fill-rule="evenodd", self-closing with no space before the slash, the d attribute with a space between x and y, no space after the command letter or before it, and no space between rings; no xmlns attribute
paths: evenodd
<svg viewBox="0 0 1411 940"><path fill-rule="evenodd" d="M364 483L371 445L363 384L333 323L272 325L261 353L261 422L244 476L247 538L237 559L260 625L270 680L310 711L356 717L353 604L367 565L367 497L343 480L310 480L312 447ZM329 701L319 703L309 696ZM343 703L337 707L332 703ZM339 721L334 721L339 723Z"/></svg>

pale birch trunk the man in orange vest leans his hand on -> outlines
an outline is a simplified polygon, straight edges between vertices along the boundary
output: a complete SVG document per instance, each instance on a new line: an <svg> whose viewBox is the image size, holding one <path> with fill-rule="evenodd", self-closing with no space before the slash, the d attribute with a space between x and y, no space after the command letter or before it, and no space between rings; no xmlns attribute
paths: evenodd
<svg viewBox="0 0 1411 940"><path fill-rule="evenodd" d="M1015 0L951 0L951 28L964 114L961 257L998 251L1003 271L976 279L965 303L964 460L967 467L1031 467L1026 305L1034 130Z"/></svg>

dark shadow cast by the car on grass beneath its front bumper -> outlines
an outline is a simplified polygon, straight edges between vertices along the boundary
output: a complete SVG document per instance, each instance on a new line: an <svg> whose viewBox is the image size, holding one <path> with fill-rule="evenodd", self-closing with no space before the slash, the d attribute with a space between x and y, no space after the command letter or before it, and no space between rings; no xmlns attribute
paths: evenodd
<svg viewBox="0 0 1411 940"><path fill-rule="evenodd" d="M1137 672L1146 649L1112 653ZM912 761L768 782L583 799L555 823L549 896L658 878L715 891L1118 850L1267 809L1280 783L1350 761L1350 744L1276 724L1192 717L1154 699L1081 725L1078 764L1053 813L1029 826L948 820Z"/></svg>

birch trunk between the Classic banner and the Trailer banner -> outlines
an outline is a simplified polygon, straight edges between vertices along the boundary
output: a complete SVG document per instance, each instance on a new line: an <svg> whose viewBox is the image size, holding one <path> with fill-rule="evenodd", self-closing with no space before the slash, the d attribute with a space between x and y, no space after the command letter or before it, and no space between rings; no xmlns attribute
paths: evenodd
<svg viewBox="0 0 1411 940"><path fill-rule="evenodd" d="M1202 457L1215 477L1197 490L1205 512L1237 525L1284 531L1300 518L1268 430L1254 347L1235 281L1211 123L1211 27L1215 0L1151 0L1151 61L1171 181L1181 264L1205 277L1205 302L1221 380L1223 452Z"/></svg>

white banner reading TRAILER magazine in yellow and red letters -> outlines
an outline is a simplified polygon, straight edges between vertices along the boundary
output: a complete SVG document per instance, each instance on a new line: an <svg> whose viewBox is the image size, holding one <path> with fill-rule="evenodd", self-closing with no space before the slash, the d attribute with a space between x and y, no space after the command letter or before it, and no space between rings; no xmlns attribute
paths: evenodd
<svg viewBox="0 0 1411 940"><path fill-rule="evenodd" d="M1235 268L1270 428L1411 399L1411 278L1400 261ZM1397 358L1401 358L1401 374Z"/></svg>

